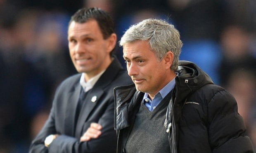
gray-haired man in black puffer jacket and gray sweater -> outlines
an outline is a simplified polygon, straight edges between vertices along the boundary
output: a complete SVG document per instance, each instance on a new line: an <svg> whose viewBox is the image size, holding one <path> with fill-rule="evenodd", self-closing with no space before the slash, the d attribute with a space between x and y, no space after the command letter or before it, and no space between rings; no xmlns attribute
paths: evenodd
<svg viewBox="0 0 256 153"><path fill-rule="evenodd" d="M120 41L133 85L114 88L118 153L253 153L235 98L178 61L173 25L146 19Z"/></svg>

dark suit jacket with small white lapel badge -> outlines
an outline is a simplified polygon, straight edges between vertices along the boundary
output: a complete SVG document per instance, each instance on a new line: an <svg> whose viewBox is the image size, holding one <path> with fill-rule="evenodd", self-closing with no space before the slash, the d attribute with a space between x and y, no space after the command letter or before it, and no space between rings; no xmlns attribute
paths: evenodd
<svg viewBox="0 0 256 153"><path fill-rule="evenodd" d="M81 90L81 74L64 80L57 88L49 118L32 141L30 153L115 153L116 132L114 131L113 88L128 85L130 77L115 58L85 98L75 126L75 113ZM102 125L98 139L80 142L80 137L90 123ZM44 146L50 134L60 134L50 146Z"/></svg>

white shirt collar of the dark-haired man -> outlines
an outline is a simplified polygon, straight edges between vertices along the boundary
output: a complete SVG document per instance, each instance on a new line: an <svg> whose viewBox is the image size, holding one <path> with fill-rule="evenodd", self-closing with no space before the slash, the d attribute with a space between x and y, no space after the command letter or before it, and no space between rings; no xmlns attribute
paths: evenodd
<svg viewBox="0 0 256 153"><path fill-rule="evenodd" d="M87 82L85 82L85 73L82 73L81 78L80 78L80 84L83 87L83 90L85 92L87 92L88 90L90 90L95 83L98 81L98 79L100 79L100 76L105 72L105 70L103 70L102 72L100 72L99 74L93 76L91 79L89 79Z"/></svg>

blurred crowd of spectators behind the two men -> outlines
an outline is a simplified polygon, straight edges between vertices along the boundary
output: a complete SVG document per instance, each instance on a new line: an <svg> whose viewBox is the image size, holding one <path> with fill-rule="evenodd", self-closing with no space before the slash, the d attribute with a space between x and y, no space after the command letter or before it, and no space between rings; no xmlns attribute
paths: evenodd
<svg viewBox="0 0 256 153"><path fill-rule="evenodd" d="M256 0L0 0L0 153L27 153L56 87L76 73L67 26L81 7L109 12L120 40L142 19L175 25L190 60L234 95L256 146ZM122 49L116 55L123 63Z"/></svg>

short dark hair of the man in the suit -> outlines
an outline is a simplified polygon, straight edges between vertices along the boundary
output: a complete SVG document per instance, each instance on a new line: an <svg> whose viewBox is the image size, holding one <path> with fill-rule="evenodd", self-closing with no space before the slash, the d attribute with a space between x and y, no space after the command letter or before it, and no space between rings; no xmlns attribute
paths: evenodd
<svg viewBox="0 0 256 153"><path fill-rule="evenodd" d="M97 7L78 9L78 11L71 16L69 26L72 21L85 23L91 19L97 21L104 39L107 39L112 33L114 33L113 19L107 12Z"/></svg>

